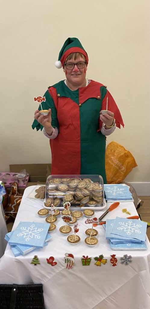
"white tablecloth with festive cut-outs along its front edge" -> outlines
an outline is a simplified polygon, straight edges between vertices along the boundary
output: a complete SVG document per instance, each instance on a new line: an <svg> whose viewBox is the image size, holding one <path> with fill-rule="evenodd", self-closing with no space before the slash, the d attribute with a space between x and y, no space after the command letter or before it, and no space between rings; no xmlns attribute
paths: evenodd
<svg viewBox="0 0 150 309"><path fill-rule="evenodd" d="M33 189L25 189L21 205L13 229L20 221L44 222L38 210L43 208L42 201L27 199ZM108 206L108 207L107 207ZM107 203L106 209L110 203ZM131 215L137 215L133 202L120 203L118 208L109 212L108 219L120 216L128 217L122 212L127 208ZM106 211L95 210L95 217L100 217ZM146 238L147 251L112 251L109 240L105 239L103 226L98 226L98 244L90 248L84 239L85 230L90 225L85 224L85 217L78 221L81 241L72 246L67 242L67 236L60 234L59 228L64 225L61 217L56 222L56 231L52 240L43 249L30 252L26 256L14 257L9 245L0 260L1 284L43 284L44 302L46 309L150 309L150 243ZM66 269L65 253L71 253L75 258L72 269ZM95 265L95 256L103 255L107 259L101 267ZM117 266L112 267L110 258L112 254L118 259ZM132 263L121 265L120 257L124 254L132 256ZM37 255L40 265L31 264L32 258ZM92 257L90 266L82 266L82 256ZM53 256L57 265L51 266L47 258Z"/></svg>

